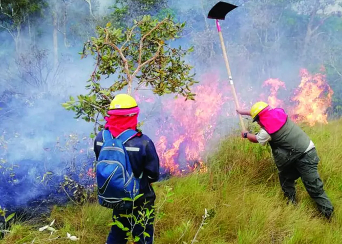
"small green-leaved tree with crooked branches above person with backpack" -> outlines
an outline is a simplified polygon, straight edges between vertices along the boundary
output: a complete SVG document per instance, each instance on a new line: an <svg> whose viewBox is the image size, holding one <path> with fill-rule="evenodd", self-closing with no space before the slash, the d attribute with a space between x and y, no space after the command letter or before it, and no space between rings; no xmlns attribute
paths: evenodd
<svg viewBox="0 0 342 244"><path fill-rule="evenodd" d="M87 95L77 96L78 101L70 97L63 103L65 109L73 110L76 118L98 123L101 114L105 116L107 107L116 91L127 86L131 93L133 81L135 89L150 87L154 94L179 94L186 99L194 99L190 87L196 83L192 66L182 58L192 52L192 48L183 50L180 46L172 48L168 41L180 38L185 23L175 23L169 16L164 20L144 16L126 31L112 27L110 22L105 28L97 28L97 36L87 41L82 57L89 53L95 55L95 70L86 86ZM101 86L101 77L116 75L116 81L109 87ZM101 125L99 130L101 129ZM96 132L96 129L95 129Z"/></svg>

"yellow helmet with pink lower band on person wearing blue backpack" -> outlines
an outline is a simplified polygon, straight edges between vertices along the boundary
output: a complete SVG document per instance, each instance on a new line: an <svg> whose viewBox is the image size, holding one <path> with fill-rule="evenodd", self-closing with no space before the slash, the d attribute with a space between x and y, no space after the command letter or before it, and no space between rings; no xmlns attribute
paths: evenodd
<svg viewBox="0 0 342 244"><path fill-rule="evenodd" d="M134 98L128 94L118 94L110 102L108 114L134 115L139 113L139 107Z"/></svg>

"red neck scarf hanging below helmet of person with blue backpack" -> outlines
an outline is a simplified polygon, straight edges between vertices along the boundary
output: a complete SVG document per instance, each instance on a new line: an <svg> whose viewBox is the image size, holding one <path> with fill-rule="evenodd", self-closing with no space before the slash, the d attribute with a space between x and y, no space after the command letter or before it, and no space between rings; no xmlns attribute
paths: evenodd
<svg viewBox="0 0 342 244"><path fill-rule="evenodd" d="M117 137L128 129L136 130L138 124L138 114L133 116L110 115L105 117L107 123L105 129L109 129L113 137Z"/></svg>

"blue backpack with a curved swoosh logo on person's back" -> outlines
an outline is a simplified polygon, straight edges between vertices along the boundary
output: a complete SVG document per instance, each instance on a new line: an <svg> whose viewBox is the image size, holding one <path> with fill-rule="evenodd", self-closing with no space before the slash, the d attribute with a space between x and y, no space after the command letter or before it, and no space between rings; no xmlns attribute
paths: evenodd
<svg viewBox="0 0 342 244"><path fill-rule="evenodd" d="M128 129L113 138L109 130L102 132L103 145L96 165L96 181L98 200L104 207L128 209L132 202L122 199L134 199L139 194L141 177L134 177L124 145L136 134L135 130Z"/></svg>

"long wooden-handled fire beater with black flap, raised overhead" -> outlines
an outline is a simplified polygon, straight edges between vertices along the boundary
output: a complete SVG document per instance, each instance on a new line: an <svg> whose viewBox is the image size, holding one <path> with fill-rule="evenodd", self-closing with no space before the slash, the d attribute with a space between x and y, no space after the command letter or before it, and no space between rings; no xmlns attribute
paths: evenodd
<svg viewBox="0 0 342 244"><path fill-rule="evenodd" d="M224 61L226 63L227 71L228 71L229 82L230 82L230 84L232 86L232 91L233 91L233 96L234 96L234 101L235 101L235 108L239 109L240 106L239 106L239 103L237 101L235 86L234 86L234 82L233 82L233 78L232 78L232 72L231 72L231 68L229 66L229 61L228 61L228 57L227 57L227 51L226 51L226 47L224 46L224 41L223 41L223 36L222 36L222 32L221 32L221 27L220 27L220 24L218 22L218 20L224 20L226 15L230 11L234 10L235 8L237 8L237 6L235 6L233 4L230 4L228 2L219 1L209 11L208 18L209 19L216 19L216 26L217 26L218 35L220 36L223 57L224 57ZM240 120L240 123L241 123L242 130L245 131L246 127L245 127L245 124L243 123L242 116L240 114L238 114L238 116L239 116L239 120Z"/></svg>

